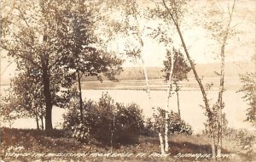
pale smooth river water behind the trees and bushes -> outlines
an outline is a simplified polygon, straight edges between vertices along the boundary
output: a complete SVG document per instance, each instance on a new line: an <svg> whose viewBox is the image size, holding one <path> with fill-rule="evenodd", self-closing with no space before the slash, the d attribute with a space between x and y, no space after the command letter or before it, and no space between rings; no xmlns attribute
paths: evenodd
<svg viewBox="0 0 256 162"><path fill-rule="evenodd" d="M148 95L144 91L135 90L83 90L83 98L98 100L101 98L102 92L108 92L115 102L119 103L137 103L145 117L152 115L153 111L151 105L155 107L165 108L166 106L166 92L165 91L152 91L152 101L148 99ZM224 92L224 113L229 121L228 125L233 128L250 128L250 124L243 122L246 119L247 103L241 99L242 94L236 91ZM202 97L200 91L181 91L180 97L180 109L183 120L188 122L195 132L199 132L204 129L204 124L207 117L204 115L204 109L201 108ZM208 97L211 103L216 101L218 97L217 91L208 92ZM170 100L170 109L177 112L177 98L173 95ZM65 109L59 109L54 107L53 109L53 125L57 127L62 119L62 115ZM17 128L36 128L36 122L34 119L20 119L15 120L12 127Z"/></svg>

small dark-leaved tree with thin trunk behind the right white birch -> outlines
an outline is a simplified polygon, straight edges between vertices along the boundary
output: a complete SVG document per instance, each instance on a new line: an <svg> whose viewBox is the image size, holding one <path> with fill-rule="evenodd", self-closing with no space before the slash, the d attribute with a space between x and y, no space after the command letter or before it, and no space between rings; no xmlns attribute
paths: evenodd
<svg viewBox="0 0 256 162"><path fill-rule="evenodd" d="M186 60L183 58L183 54L180 51L177 51L175 48L172 49L172 52L174 53L174 69L172 73L173 77L173 84L175 85L174 91L177 94L177 112L179 117L180 115L180 108L179 108L179 95L178 92L180 91L180 86L178 84L179 81L183 81L185 79L188 79L188 73L191 70L189 67L189 64L186 62ZM164 61L165 68L162 70L166 72L164 77L166 78L166 81L168 81L170 72L170 66L172 66L172 61L170 58L170 53L166 53L166 60Z"/></svg>

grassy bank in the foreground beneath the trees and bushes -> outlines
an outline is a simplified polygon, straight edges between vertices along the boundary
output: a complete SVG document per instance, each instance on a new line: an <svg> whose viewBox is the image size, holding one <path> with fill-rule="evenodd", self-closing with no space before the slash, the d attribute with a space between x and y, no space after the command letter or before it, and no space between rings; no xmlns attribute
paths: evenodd
<svg viewBox="0 0 256 162"><path fill-rule="evenodd" d="M230 144L229 144L230 143ZM177 154L211 154L210 139L203 135L172 135L170 137L170 155L166 158L153 157L160 153L157 137L139 137L139 143L133 145L118 145L113 148L115 154L132 154L130 157L91 157L94 153L108 154L111 148L102 146L98 142L81 143L69 137L66 131L28 130L28 129L1 129L1 158L4 161L210 161L210 159L176 158ZM237 154L241 148L236 142L224 139L224 154ZM20 147L20 149L19 149ZM25 157L8 157L8 153L27 154ZM32 154L54 154L52 156L33 157ZM146 154L136 157L137 154ZM65 157L57 154L87 154L86 156ZM151 155L151 157L150 157ZM39 155L38 155L39 156ZM250 161L246 155L237 154L235 159L223 161Z"/></svg>

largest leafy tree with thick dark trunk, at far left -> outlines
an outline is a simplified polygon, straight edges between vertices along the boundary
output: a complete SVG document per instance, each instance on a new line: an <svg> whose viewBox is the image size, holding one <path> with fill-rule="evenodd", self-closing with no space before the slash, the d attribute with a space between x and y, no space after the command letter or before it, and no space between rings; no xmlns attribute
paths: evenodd
<svg viewBox="0 0 256 162"><path fill-rule="evenodd" d="M87 18L87 15L90 15L92 9L86 10L90 8L88 3L38 0L33 3L13 1L6 5L3 5L1 47L15 59L18 70L26 70L29 64L40 75L44 89L45 129L50 130L52 129L52 107L54 104L59 104L59 100L56 99L57 92L64 92L61 87L66 87L68 92L73 85L76 76L70 71L73 67L76 67L76 72L81 73L79 68L85 63L80 63L87 62L85 65L88 66L84 68L85 70L83 69L84 71L92 74L108 70L106 75L112 76L115 70L109 67L120 64L121 61L109 53L101 59L102 51L89 46L88 40L91 37L87 37L88 32L79 34L79 31L90 29L90 23L87 22L90 17ZM86 23L89 27L84 26L87 25ZM79 40L79 38L83 39ZM81 60L81 50L84 50L83 53L90 53L89 60L84 59L86 55ZM97 54L95 54L96 51ZM68 54L78 58L70 59L67 57ZM106 61L108 63L102 62L103 59L108 60ZM92 64L94 66L91 66ZM95 70L96 67L98 68Z"/></svg>

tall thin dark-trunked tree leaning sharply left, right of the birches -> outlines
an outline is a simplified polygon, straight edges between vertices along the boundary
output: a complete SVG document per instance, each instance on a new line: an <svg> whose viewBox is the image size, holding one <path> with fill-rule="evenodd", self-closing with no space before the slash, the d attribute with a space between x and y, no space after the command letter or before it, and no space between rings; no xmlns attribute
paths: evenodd
<svg viewBox="0 0 256 162"><path fill-rule="evenodd" d="M207 98L207 92L205 90L205 87L202 85L201 78L197 74L194 61L190 57L188 47L186 46L186 42L183 38L183 32L181 30L182 20L187 11L186 7L187 7L187 2L184 0L181 0L181 1L162 0L160 1L160 3L156 3L156 8L154 8L154 13L161 20L164 20L166 24L174 25L177 31L177 34L180 38L183 51L186 54L187 59L189 60L189 64L195 75L195 80L198 82L198 85L201 89L201 94L203 97L203 101L205 103L206 115L208 117L208 122L210 126L210 134L212 136L212 159L216 159L215 136L214 136L215 126L213 121L214 112L212 112L212 109L210 108L210 104Z"/></svg>

